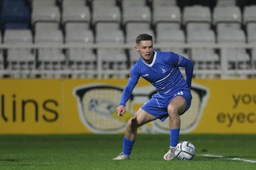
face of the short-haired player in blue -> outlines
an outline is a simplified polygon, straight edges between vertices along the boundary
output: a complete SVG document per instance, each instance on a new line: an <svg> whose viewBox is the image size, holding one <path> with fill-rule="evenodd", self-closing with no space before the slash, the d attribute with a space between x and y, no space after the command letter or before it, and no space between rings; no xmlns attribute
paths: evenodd
<svg viewBox="0 0 256 170"><path fill-rule="evenodd" d="M153 60L153 43L152 41L140 41L139 44L135 46L136 51L140 53L140 57L148 64Z"/></svg>

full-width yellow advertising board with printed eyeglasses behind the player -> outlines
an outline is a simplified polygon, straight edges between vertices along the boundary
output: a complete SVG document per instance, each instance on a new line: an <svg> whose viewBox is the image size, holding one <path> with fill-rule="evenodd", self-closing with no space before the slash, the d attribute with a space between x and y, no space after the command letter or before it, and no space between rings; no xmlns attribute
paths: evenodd
<svg viewBox="0 0 256 170"><path fill-rule="evenodd" d="M123 133L126 123L156 92L140 79L116 117L127 79L0 80L0 134ZM256 80L192 80L192 105L181 133L256 133ZM169 133L168 119L139 133Z"/></svg>

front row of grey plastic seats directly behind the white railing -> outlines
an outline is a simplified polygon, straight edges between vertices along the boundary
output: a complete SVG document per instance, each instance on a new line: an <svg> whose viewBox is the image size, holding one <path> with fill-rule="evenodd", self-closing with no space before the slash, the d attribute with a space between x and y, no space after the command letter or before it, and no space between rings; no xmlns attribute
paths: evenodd
<svg viewBox="0 0 256 170"><path fill-rule="evenodd" d="M150 30L144 31L146 33L149 33L153 35L153 32ZM250 37L251 41L250 43L256 43L256 34L254 34L253 37ZM137 36L137 33L131 33L127 37L127 43L134 45L134 37ZM218 42L218 44L233 44L234 49L230 49L228 51L228 61L233 63L233 66L230 66L230 68L242 68L246 69L248 68L248 65L246 63L250 63L251 61L256 60L256 51L252 50L251 57L246 53L246 50L243 48L237 48L236 45L244 45L246 43L245 34L242 30L232 30L232 31L220 31L218 33L217 38L214 35L214 31L212 30L201 30L201 31L193 31L190 32L185 41L185 34L182 30L173 30L173 31L162 31L159 35L156 36L155 42L158 44L164 44L164 43L173 43L173 44L196 44L196 43L204 43L204 44L210 44L213 45L215 42ZM109 43L116 43L116 44L125 44L124 43L124 33L122 33L121 30L110 30L108 33L99 32L96 35L96 38L94 40L94 36L92 31L85 30L85 31L70 31L66 33L66 36L64 37L62 35L62 32L60 30L56 31L50 31L50 32L39 32L35 35L34 38L34 44L36 45L60 45L65 44L68 45L92 45L94 44L94 41L98 45L104 45ZM29 29L9 29L6 30L4 33L4 44L5 45L32 45L33 44L33 37L32 32ZM182 48L162 48L160 49L162 51L174 51L176 53L180 53L194 61L194 63L201 63L202 61L208 61L208 62L214 62L219 63L220 59L218 55L214 52L213 49L196 49L192 51L188 51L188 53L185 53L185 51ZM63 69L62 67L66 66L65 61L88 61L88 62L94 62L96 61L96 56L92 50L88 49L70 49L65 55L62 53L63 51L60 49L40 49L38 50L38 58L37 62L43 63L48 61L55 61L59 62L57 64L56 68L48 68L44 67L44 69ZM96 51L97 55L101 55L103 62L115 62L118 60L118 62L123 62L123 64L126 64L128 61L129 63L134 63L138 59L138 53L134 51L134 49L128 51L128 56L124 53L123 50L98 50ZM36 61L35 55L31 53L31 50L24 50L24 49L9 49L6 52L6 57L4 60L4 57L2 56L2 60L6 61L6 63L9 63L10 65L6 66L6 68L9 69L25 69L25 68L17 68L17 61L30 61L30 64L33 63L32 61ZM116 57L116 56L119 57ZM243 66L236 67L236 64L234 63L244 63ZM13 63L13 64L12 64ZM35 66L32 64L32 66ZM43 65L40 65L43 66ZM200 68L200 64L198 65ZM127 68L127 66L122 65L120 68ZM211 69L215 69L216 67L213 66ZM107 69L107 68L106 68Z"/></svg>

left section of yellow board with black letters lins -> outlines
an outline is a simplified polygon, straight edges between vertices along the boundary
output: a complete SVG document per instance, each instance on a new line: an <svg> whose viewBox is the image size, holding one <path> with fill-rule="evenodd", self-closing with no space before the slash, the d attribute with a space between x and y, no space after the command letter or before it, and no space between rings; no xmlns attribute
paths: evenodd
<svg viewBox="0 0 256 170"><path fill-rule="evenodd" d="M60 133L61 80L0 80L0 133Z"/></svg>

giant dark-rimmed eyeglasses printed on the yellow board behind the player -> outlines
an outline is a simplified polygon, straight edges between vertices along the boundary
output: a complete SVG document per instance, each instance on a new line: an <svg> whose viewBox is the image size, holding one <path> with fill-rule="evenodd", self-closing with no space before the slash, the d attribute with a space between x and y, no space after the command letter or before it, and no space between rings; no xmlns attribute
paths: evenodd
<svg viewBox="0 0 256 170"><path fill-rule="evenodd" d="M209 90L198 84L192 84L192 104L188 113L181 116L180 133L192 131L198 124L203 108L207 102ZM126 123L134 115L137 107L148 101L156 93L149 85L135 87L126 103L126 113L117 117L115 108L118 107L123 87L108 84L88 84L74 88L73 94L78 101L80 120L93 133L116 133L124 131ZM168 119L152 121L152 125L143 125L139 131L144 133L170 133Z"/></svg>

